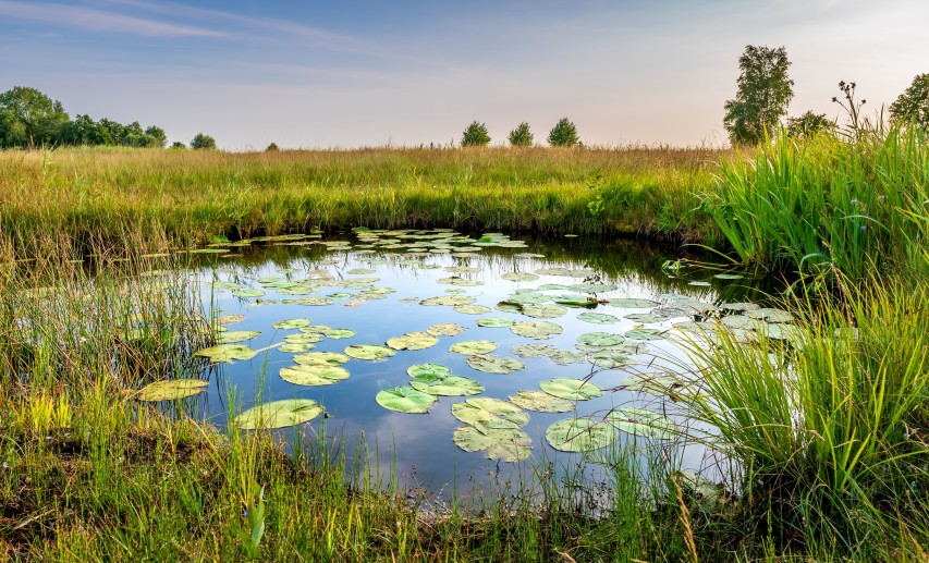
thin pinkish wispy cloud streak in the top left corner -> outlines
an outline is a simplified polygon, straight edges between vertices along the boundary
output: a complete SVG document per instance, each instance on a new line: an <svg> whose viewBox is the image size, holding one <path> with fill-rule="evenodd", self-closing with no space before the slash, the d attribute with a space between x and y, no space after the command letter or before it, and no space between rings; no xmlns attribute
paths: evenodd
<svg viewBox="0 0 929 563"><path fill-rule="evenodd" d="M206 27L180 25L66 4L0 0L0 15L87 32L118 32L146 37L218 37L224 35Z"/></svg>

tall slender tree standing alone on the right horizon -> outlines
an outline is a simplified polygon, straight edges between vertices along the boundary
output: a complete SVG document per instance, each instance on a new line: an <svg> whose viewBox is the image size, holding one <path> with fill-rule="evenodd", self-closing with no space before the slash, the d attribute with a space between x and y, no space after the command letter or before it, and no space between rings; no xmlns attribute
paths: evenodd
<svg viewBox="0 0 929 563"><path fill-rule="evenodd" d="M723 124L733 145L758 143L787 113L794 81L787 76L787 51L749 45L738 58L735 99L726 100Z"/></svg>

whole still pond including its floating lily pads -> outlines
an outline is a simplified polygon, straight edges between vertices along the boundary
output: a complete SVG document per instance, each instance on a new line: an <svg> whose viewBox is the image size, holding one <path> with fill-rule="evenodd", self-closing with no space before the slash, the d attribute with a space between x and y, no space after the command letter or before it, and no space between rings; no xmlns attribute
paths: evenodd
<svg viewBox="0 0 929 563"><path fill-rule="evenodd" d="M631 241L356 229L194 253L220 345L201 352L204 414L221 426L230 397L235 413L309 400L295 415L311 420L282 432L342 437L350 458L364 436L381 479L430 491L660 442L682 424L682 388L649 379L686 362L669 338L721 315L736 330L778 320L746 310L768 310L770 282L677 270Z"/></svg>

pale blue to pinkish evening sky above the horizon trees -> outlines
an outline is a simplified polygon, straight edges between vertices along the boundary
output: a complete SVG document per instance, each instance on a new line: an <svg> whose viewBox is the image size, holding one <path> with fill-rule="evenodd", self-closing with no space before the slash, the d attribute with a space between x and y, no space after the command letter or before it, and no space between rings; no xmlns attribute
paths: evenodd
<svg viewBox="0 0 929 563"><path fill-rule="evenodd" d="M724 146L747 45L784 47L789 113L842 118L929 72L927 0L0 0L0 91L228 150L503 144L559 119L587 145Z"/></svg>

